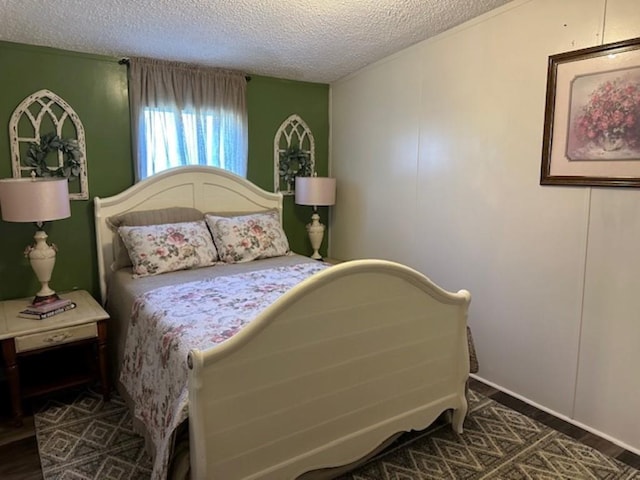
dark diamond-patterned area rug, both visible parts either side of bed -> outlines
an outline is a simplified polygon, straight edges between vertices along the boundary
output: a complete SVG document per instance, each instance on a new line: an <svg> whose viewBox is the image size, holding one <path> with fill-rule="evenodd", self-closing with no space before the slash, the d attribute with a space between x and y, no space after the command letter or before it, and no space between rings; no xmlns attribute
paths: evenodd
<svg viewBox="0 0 640 480"><path fill-rule="evenodd" d="M400 437L339 480L640 480L640 471L471 390L464 433L444 421ZM122 400L92 390L49 399L35 413L45 480L150 476L143 440Z"/></svg>

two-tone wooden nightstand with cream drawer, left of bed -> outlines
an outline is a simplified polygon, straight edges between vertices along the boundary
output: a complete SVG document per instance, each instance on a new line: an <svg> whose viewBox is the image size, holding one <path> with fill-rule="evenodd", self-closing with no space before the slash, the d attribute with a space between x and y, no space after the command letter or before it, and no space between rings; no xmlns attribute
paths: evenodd
<svg viewBox="0 0 640 480"><path fill-rule="evenodd" d="M18 426L25 398L99 379L102 395L109 399L109 315L83 290L60 296L75 302L76 308L44 320L18 317L31 298L0 302L0 343Z"/></svg>

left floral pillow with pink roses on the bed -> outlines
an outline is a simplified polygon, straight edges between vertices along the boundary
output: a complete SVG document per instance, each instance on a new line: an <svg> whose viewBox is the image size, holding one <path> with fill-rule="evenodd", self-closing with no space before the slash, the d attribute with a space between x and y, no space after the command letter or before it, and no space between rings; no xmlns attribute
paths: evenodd
<svg viewBox="0 0 640 480"><path fill-rule="evenodd" d="M204 221L123 226L134 278L213 265L218 259Z"/></svg>

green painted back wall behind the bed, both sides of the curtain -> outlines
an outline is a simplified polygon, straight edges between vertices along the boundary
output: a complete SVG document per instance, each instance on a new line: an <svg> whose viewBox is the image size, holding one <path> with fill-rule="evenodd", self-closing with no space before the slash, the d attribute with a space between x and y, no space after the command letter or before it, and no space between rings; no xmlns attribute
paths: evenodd
<svg viewBox="0 0 640 480"><path fill-rule="evenodd" d="M117 58L0 42L0 64L5 66L0 72L0 178L11 177L11 114L25 97L48 89L64 98L84 125L90 198L114 195L133 183L127 72ZM327 173L328 85L253 76L247 97L251 181L273 190L273 137L292 113L311 128L318 173ZM286 197L284 215L292 250L310 254L304 225L311 209ZM321 215L327 218L326 211ZM33 233L32 225L0 221L0 300L29 296L39 288L22 255ZM51 222L47 233L59 249L51 286L86 289L97 297L93 201L72 201L71 217Z"/></svg>

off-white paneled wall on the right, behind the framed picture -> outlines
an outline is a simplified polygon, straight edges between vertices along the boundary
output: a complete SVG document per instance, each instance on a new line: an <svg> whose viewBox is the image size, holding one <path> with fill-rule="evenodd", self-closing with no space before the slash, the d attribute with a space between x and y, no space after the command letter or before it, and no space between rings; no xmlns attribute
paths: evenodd
<svg viewBox="0 0 640 480"><path fill-rule="evenodd" d="M548 56L635 36L515 1L332 85L330 253L469 289L482 378L640 452L640 191L539 185Z"/></svg>

